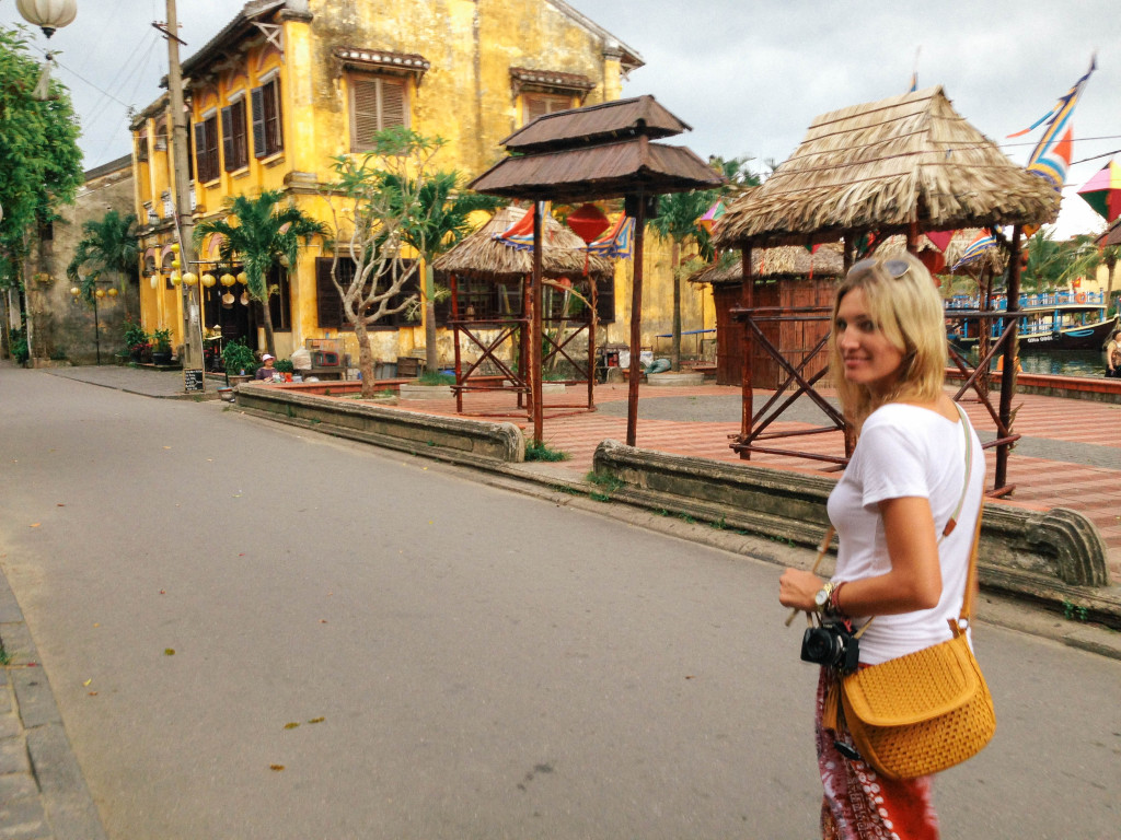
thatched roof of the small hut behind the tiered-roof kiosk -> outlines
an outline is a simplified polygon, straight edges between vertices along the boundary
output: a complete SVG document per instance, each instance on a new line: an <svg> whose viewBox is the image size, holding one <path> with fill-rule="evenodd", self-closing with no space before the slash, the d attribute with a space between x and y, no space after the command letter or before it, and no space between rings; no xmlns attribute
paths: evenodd
<svg viewBox="0 0 1121 840"><path fill-rule="evenodd" d="M436 258L433 268L461 277L491 280L522 278L534 272L531 251L519 251L494 239L520 221L527 213L521 207L500 207L491 220L466 236L455 248ZM584 241L552 215L545 217L541 231L541 273L545 277L580 277L584 273ZM602 256L587 259L587 273L609 277L614 273L610 261Z"/></svg>

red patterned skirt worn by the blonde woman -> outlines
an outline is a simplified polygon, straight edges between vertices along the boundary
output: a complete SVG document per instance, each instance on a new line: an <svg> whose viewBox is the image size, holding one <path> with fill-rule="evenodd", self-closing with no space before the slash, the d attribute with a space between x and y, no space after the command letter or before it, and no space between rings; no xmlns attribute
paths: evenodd
<svg viewBox="0 0 1121 840"><path fill-rule="evenodd" d="M852 736L822 725L825 697L837 680L822 669L817 683L817 766L825 796L822 801L823 840L938 840L938 815L934 811L933 776L893 781L881 778L861 760L845 758L834 741L852 746ZM839 689L837 689L839 690ZM828 692L835 702L837 693ZM832 717L832 716L831 716Z"/></svg>

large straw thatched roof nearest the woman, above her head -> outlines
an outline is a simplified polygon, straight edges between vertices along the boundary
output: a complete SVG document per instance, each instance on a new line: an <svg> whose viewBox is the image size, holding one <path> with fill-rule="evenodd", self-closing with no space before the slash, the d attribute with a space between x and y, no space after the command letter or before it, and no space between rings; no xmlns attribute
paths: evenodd
<svg viewBox="0 0 1121 840"><path fill-rule="evenodd" d="M1012 164L949 104L942 87L854 105L814 120L802 146L759 188L732 202L720 248L1043 224L1059 195Z"/></svg>

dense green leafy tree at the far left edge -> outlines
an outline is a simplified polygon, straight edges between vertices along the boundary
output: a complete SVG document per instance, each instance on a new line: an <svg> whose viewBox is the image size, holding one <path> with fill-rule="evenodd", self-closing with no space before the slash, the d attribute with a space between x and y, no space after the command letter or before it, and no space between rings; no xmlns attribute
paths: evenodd
<svg viewBox="0 0 1121 840"><path fill-rule="evenodd" d="M55 221L57 205L72 203L82 184L70 96L52 81L45 101L33 99L39 66L24 31L0 27L0 288L20 291L31 232Z"/></svg>

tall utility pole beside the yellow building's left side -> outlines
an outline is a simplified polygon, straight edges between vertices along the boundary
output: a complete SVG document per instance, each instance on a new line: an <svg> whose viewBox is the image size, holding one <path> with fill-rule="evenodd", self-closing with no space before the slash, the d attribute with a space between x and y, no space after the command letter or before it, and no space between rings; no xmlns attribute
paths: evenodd
<svg viewBox="0 0 1121 840"><path fill-rule="evenodd" d="M172 167L175 176L175 230L179 242L180 273L194 265L194 220L191 215L191 175L187 160L187 115L183 106L183 72L179 68L179 21L175 0L167 0L167 91L172 108ZM183 283L184 368L203 366L202 312L194 287Z"/></svg>

